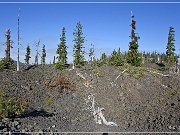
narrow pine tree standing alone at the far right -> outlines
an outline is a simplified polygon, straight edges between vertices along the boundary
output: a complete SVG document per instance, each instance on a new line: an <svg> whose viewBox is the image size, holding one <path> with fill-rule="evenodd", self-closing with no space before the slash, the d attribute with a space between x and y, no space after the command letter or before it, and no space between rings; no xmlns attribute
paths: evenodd
<svg viewBox="0 0 180 135"><path fill-rule="evenodd" d="M167 60L169 65L173 65L175 62L175 38L174 38L174 28L170 27L169 28L169 34L168 34L168 43L166 47L166 55L167 55Z"/></svg>

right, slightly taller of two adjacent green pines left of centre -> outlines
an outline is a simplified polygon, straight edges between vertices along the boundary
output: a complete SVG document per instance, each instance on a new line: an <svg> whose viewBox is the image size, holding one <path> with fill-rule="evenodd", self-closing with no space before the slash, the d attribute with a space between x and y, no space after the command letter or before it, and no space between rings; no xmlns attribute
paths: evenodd
<svg viewBox="0 0 180 135"><path fill-rule="evenodd" d="M74 66L81 67L85 64L85 58L83 56L83 44L85 42L85 37L82 32L83 26L80 22L77 23L76 30L73 33L74 35Z"/></svg>

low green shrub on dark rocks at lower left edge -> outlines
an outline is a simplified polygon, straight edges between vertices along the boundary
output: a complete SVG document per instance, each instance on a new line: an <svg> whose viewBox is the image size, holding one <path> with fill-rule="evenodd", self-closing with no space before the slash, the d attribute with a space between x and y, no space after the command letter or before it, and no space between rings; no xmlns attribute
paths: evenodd
<svg viewBox="0 0 180 135"><path fill-rule="evenodd" d="M19 116L26 110L27 102L15 101L9 94L0 90L0 119Z"/></svg>

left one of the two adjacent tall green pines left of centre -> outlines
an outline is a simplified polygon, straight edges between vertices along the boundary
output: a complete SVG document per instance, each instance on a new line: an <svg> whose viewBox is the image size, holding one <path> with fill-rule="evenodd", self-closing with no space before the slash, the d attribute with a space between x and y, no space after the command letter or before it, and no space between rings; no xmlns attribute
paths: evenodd
<svg viewBox="0 0 180 135"><path fill-rule="evenodd" d="M56 53L58 54L56 63L56 68L63 70L67 65L67 46L66 46L66 30L65 27L62 28L62 35L60 37L60 44L58 45L58 49Z"/></svg>

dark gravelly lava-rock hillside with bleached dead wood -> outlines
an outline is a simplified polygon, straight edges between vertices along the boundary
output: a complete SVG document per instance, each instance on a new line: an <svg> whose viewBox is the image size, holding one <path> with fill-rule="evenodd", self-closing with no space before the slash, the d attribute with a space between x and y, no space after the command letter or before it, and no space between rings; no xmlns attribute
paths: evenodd
<svg viewBox="0 0 180 135"><path fill-rule="evenodd" d="M26 114L3 119L1 132L180 132L179 74L45 65L4 70L0 78L3 91L29 105Z"/></svg>

